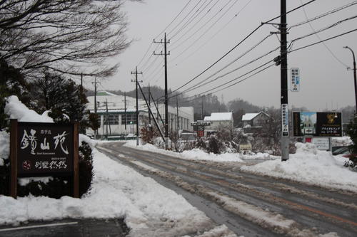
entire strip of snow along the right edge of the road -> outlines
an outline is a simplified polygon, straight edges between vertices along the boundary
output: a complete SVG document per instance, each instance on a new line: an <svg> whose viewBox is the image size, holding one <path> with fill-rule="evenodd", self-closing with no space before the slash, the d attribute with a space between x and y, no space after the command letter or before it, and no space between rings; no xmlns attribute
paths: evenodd
<svg viewBox="0 0 357 237"><path fill-rule="evenodd" d="M338 139L340 143L348 144L349 137ZM135 142L126 142L126 146L136 149L150 150L163 154L170 154L181 159L207 160L214 162L240 162L247 159L260 159L266 161L255 165L243 165L242 171L256 174L281 177L307 184L324 186L327 188L345 189L357 192L357 172L343 167L347 158L342 155L333 156L331 152L319 151L314 144L297 143L296 154L290 154L290 159L281 162L281 157L271 156L265 153L258 154L207 154L200 149L193 149L181 153L158 149L151 144L139 145Z"/></svg>

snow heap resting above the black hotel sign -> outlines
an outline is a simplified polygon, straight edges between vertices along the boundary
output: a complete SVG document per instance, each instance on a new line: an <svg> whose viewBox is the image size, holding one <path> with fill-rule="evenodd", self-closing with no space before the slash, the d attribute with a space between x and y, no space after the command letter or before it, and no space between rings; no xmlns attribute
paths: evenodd
<svg viewBox="0 0 357 237"><path fill-rule="evenodd" d="M7 99L5 113L9 115L10 119L17 119L19 122L54 122L54 120L49 117L48 111L39 115L34 110L29 110L29 108L14 95Z"/></svg>

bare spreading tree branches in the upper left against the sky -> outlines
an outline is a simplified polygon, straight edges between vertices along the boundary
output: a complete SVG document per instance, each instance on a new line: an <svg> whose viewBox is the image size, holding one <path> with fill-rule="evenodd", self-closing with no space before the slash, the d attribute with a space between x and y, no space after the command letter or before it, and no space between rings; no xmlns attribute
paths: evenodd
<svg viewBox="0 0 357 237"><path fill-rule="evenodd" d="M108 76L129 46L122 0L0 1L0 58L25 75L43 68Z"/></svg>

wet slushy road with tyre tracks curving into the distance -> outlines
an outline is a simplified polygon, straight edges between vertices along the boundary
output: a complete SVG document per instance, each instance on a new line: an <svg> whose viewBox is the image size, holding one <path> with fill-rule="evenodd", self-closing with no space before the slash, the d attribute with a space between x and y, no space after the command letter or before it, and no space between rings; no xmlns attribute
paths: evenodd
<svg viewBox="0 0 357 237"><path fill-rule="evenodd" d="M357 194L322 189L239 170L100 144L98 149L184 196L237 236L357 236Z"/></svg>

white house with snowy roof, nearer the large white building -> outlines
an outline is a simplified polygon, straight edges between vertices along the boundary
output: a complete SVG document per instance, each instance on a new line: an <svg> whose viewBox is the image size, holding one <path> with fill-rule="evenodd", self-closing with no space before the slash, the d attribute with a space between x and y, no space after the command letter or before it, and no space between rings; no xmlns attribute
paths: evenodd
<svg viewBox="0 0 357 237"><path fill-rule="evenodd" d="M219 127L233 128L233 112L212 112L211 116L204 117L206 122L211 122L211 125L205 128L205 136L217 132Z"/></svg>

